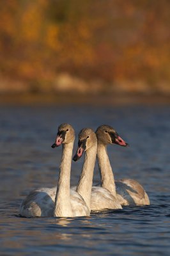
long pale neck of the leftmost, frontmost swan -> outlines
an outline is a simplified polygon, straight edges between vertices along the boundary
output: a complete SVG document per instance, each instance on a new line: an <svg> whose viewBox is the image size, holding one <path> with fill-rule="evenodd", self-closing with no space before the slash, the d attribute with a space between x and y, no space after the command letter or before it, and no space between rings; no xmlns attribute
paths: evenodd
<svg viewBox="0 0 170 256"><path fill-rule="evenodd" d="M58 189L56 193L54 216L72 216L70 203L70 172L72 163L73 142L63 144L61 165L59 170Z"/></svg>

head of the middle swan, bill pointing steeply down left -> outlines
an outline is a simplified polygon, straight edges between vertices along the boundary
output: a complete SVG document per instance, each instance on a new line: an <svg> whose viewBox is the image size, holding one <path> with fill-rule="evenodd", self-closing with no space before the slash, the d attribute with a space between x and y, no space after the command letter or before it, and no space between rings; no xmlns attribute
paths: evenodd
<svg viewBox="0 0 170 256"><path fill-rule="evenodd" d="M84 128L79 133L78 148L73 161L77 161L81 158L84 151L97 145L97 136L95 132L90 128Z"/></svg>

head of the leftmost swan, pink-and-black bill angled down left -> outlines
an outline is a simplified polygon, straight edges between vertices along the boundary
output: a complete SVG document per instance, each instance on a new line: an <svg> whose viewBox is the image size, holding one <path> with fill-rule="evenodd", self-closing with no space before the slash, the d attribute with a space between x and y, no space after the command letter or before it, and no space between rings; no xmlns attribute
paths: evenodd
<svg viewBox="0 0 170 256"><path fill-rule="evenodd" d="M56 137L56 141L52 144L52 148L58 147L59 145L67 144L74 141L75 135L72 125L70 124L61 124L58 127L58 134Z"/></svg>

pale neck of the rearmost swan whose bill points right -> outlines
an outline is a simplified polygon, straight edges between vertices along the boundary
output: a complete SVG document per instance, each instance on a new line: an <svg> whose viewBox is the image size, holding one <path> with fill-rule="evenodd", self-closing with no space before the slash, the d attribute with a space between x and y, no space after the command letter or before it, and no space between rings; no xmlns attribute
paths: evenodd
<svg viewBox="0 0 170 256"><path fill-rule="evenodd" d="M107 155L106 145L98 143L97 147L98 168L100 170L101 186L108 189L112 195L116 196L116 186L111 164Z"/></svg>

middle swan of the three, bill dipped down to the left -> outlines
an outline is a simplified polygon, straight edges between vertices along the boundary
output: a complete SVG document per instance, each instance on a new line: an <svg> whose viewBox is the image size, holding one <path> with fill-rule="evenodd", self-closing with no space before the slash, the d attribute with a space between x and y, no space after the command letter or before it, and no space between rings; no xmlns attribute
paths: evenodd
<svg viewBox="0 0 170 256"><path fill-rule="evenodd" d="M93 171L97 157L97 136L90 129L82 129L79 133L78 148L73 161L81 158L85 151L84 164L77 184L77 193L84 198L92 212L104 211L105 209L122 209L120 202L107 188L92 187ZM92 189L91 189L92 187Z"/></svg>

